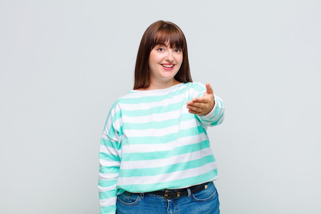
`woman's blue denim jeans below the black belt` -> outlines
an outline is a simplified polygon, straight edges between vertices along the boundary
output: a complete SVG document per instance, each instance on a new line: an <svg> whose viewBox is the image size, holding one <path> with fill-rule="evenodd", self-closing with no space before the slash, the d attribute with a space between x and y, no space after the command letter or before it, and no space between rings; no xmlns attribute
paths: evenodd
<svg viewBox="0 0 321 214"><path fill-rule="evenodd" d="M208 188L188 196L165 199L151 193L124 192L117 198L117 214L219 214L216 187L209 182Z"/></svg>

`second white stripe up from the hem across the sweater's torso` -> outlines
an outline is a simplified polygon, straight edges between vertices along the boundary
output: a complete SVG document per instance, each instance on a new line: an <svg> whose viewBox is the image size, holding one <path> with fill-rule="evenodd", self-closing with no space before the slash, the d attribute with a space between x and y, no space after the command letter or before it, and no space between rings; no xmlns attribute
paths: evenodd
<svg viewBox="0 0 321 214"><path fill-rule="evenodd" d="M144 161L122 161L121 170L165 167L172 164L198 160L211 154L213 154L213 151L209 147L200 151L194 151L190 153L175 155L174 157L164 158L164 159L154 159L154 160L144 160Z"/></svg>

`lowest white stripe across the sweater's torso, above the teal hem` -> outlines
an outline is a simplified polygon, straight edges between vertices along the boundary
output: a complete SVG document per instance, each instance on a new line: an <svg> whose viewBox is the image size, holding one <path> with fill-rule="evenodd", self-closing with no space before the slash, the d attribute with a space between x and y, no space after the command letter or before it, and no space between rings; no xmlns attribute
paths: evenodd
<svg viewBox="0 0 321 214"><path fill-rule="evenodd" d="M205 174L209 171L216 169L216 162L208 163L202 167L187 169L183 171L176 171L166 174L158 174L157 176L146 176L146 177L119 177L118 185L139 185L139 184L155 184L159 182L170 182L177 179L191 178L195 175Z"/></svg>

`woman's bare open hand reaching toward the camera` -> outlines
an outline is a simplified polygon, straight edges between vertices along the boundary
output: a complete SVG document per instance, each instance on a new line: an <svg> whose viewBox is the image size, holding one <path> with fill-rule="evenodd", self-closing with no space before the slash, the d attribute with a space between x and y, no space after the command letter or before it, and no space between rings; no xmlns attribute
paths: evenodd
<svg viewBox="0 0 321 214"><path fill-rule="evenodd" d="M188 112L199 116L207 115L214 108L214 92L209 83L206 83L206 92L199 98L187 102Z"/></svg>

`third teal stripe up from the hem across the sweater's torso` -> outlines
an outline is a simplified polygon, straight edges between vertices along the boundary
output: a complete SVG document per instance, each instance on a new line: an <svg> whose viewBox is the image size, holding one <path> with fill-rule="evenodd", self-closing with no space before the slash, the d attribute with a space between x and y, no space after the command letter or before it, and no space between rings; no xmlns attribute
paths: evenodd
<svg viewBox="0 0 321 214"><path fill-rule="evenodd" d="M186 146L175 147L170 151L154 151L154 152L136 152L136 153L123 153L122 161L147 161L156 159L166 159L179 154L190 153L209 148L208 141L202 141Z"/></svg>

